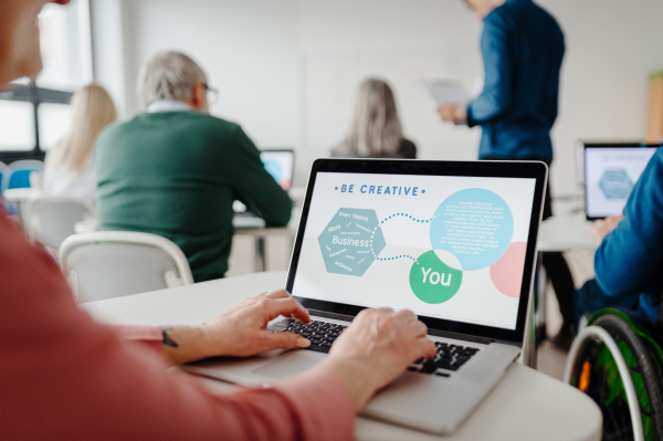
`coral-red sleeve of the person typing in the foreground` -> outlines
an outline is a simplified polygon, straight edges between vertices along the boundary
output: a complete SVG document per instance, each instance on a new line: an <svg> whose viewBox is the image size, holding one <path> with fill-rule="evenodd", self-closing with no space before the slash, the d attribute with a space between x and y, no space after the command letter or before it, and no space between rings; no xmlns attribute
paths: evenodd
<svg viewBox="0 0 663 441"><path fill-rule="evenodd" d="M59 266L0 217L3 439L349 440L343 382L309 371L217 396L81 312ZM130 330L130 332L128 332ZM124 329L145 339L155 328Z"/></svg>

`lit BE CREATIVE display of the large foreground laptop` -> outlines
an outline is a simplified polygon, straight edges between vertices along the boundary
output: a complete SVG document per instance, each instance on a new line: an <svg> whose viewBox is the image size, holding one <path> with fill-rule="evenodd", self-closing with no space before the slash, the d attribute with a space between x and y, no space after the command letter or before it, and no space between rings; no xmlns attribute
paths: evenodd
<svg viewBox="0 0 663 441"><path fill-rule="evenodd" d="M317 172L291 293L514 330L536 183Z"/></svg>

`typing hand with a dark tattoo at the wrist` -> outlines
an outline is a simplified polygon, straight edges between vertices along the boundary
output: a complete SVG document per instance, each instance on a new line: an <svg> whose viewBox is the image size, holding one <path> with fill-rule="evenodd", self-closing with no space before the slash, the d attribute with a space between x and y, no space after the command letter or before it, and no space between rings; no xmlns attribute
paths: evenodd
<svg viewBox="0 0 663 441"><path fill-rule="evenodd" d="M161 354L173 364L208 357L250 357L272 349L295 349L311 342L290 332L267 330L270 321L278 316L311 323L308 312L285 290L249 297L224 314L198 326L175 326L165 329L169 342Z"/></svg>

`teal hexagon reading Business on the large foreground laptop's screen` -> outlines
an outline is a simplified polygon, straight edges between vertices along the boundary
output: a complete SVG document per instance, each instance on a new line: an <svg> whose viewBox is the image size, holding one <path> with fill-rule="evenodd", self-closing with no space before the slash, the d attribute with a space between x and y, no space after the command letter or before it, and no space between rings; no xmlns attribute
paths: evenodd
<svg viewBox="0 0 663 441"><path fill-rule="evenodd" d="M328 273L362 276L385 245L375 210L341 208L318 235Z"/></svg>

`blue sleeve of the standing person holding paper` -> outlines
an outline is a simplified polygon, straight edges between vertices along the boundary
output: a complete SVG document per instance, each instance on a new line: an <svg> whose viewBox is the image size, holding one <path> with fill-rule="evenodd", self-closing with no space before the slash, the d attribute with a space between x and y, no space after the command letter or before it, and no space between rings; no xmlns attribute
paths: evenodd
<svg viewBox="0 0 663 441"><path fill-rule="evenodd" d="M506 112L513 98L514 54L508 22L498 11L484 21L481 53L485 83L481 95L467 105L467 125L488 123Z"/></svg>

